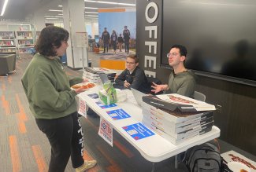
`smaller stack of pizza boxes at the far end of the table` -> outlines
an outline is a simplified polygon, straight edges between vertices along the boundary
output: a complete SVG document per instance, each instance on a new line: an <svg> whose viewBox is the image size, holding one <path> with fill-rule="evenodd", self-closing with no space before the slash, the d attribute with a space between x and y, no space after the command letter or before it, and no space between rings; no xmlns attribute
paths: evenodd
<svg viewBox="0 0 256 172"><path fill-rule="evenodd" d="M85 71L83 72L83 79L88 79L89 82L101 82L99 77L99 73L104 73L108 76L109 80L113 82L114 77L116 76L116 72L107 68L91 68L86 67L84 68Z"/></svg>

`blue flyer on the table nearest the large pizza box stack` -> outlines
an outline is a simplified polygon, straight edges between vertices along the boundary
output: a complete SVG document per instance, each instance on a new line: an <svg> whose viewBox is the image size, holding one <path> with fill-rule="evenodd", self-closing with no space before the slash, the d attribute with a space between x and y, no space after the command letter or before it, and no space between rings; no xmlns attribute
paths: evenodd
<svg viewBox="0 0 256 172"><path fill-rule="evenodd" d="M142 123L135 123L130 126L123 126L123 129L130 134L135 140L139 140L145 137L153 136L154 133L150 131Z"/></svg>

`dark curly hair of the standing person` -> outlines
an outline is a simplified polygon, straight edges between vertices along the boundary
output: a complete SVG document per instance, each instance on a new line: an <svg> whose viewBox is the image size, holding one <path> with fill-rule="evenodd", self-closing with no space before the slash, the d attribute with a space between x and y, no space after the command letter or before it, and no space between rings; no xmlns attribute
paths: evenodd
<svg viewBox="0 0 256 172"><path fill-rule="evenodd" d="M40 32L39 39L35 45L35 50L47 57L57 56L54 47L59 48L61 46L61 42L68 41L68 39L69 32L64 28L47 26Z"/></svg>

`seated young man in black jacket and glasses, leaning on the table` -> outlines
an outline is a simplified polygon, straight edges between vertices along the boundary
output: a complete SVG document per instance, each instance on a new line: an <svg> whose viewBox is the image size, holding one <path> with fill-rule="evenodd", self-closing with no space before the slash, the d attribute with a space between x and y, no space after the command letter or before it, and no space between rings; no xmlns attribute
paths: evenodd
<svg viewBox="0 0 256 172"><path fill-rule="evenodd" d="M150 93L150 85L144 71L138 67L139 59L136 55L128 55L126 57L126 69L118 75L115 80L118 86L124 88L133 88L143 93Z"/></svg>

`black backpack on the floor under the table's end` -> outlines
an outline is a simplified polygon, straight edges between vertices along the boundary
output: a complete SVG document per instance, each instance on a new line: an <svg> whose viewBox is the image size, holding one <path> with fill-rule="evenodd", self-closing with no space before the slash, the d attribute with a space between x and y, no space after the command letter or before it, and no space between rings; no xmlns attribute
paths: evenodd
<svg viewBox="0 0 256 172"><path fill-rule="evenodd" d="M190 172L220 172L222 159L217 141L189 148L183 161Z"/></svg>

